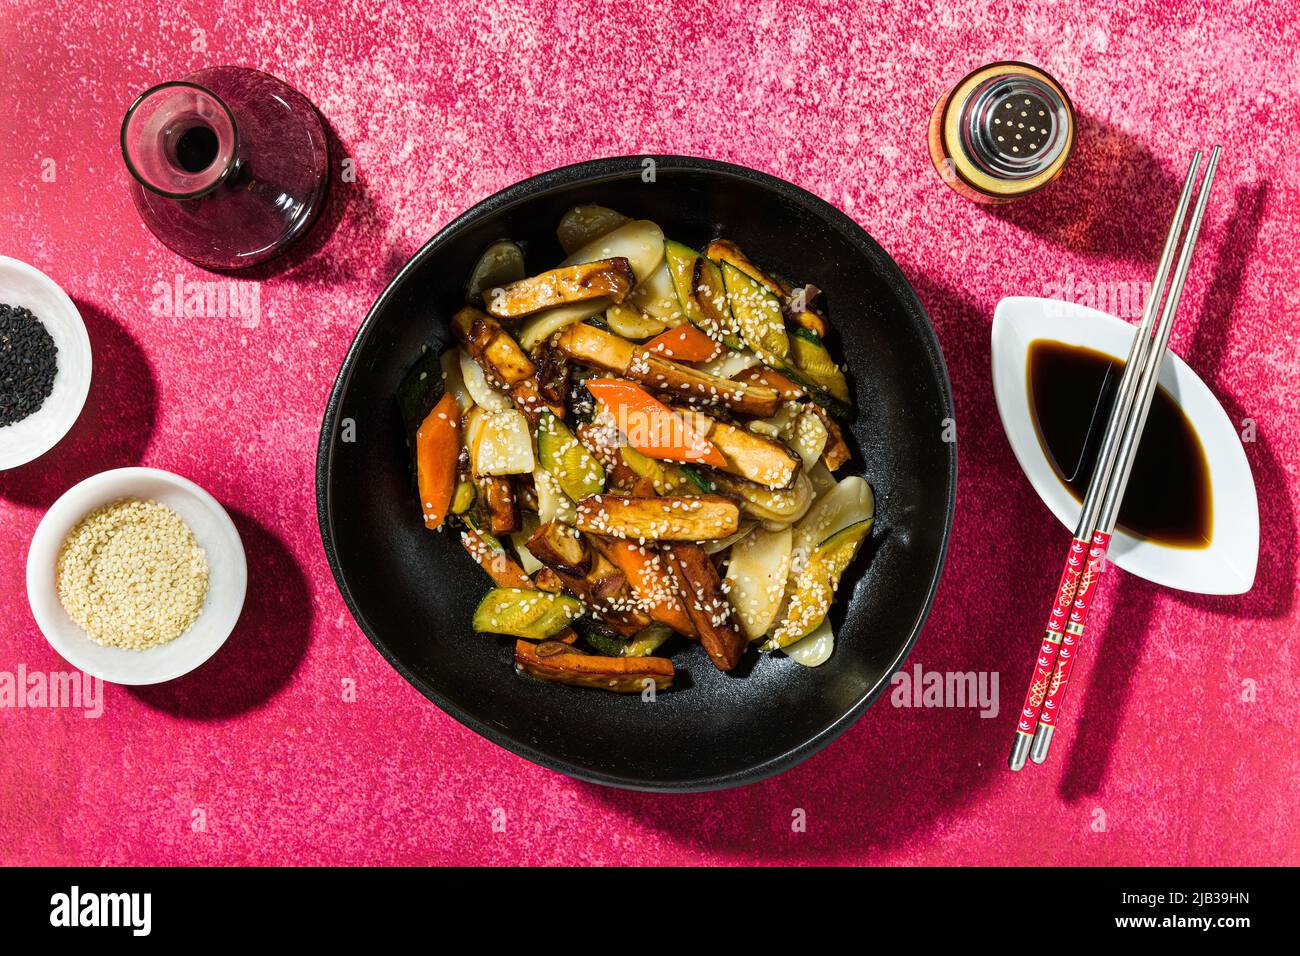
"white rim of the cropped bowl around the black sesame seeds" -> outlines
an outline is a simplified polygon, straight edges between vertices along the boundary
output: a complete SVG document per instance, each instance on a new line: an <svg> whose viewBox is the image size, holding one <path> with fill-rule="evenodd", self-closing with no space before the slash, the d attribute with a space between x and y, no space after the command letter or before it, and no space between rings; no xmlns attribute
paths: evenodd
<svg viewBox="0 0 1300 956"><path fill-rule="evenodd" d="M39 458L68 434L90 394L91 351L77 306L40 269L0 256L0 303L30 308L58 349L49 398L34 415L0 428L0 471L5 471Z"/></svg>

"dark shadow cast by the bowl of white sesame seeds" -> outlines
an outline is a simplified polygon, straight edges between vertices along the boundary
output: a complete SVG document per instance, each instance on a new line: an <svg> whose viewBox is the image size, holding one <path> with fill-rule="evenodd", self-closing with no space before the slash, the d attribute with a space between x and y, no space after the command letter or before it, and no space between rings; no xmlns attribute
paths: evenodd
<svg viewBox="0 0 1300 956"><path fill-rule="evenodd" d="M131 688L151 708L174 717L218 721L261 706L292 678L311 640L311 594L294 555L261 523L226 510L248 555L239 623L198 670L166 684Z"/></svg>

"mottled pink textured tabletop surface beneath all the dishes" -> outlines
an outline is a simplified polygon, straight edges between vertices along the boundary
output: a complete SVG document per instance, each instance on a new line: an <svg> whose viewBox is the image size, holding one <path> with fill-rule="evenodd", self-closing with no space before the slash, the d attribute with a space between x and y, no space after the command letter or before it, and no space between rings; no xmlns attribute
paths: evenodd
<svg viewBox="0 0 1300 956"><path fill-rule="evenodd" d="M0 475L0 670L64 666L27 610L27 540L64 489L104 468L157 466L212 490L244 537L252 589L239 630L191 678L108 687L98 721L0 710L0 862L1300 862L1288 643L1300 7L94 7L0 0L0 251L77 300L98 373L73 433ZM993 213L940 183L924 124L967 69L1009 57L1065 83L1082 144L1063 181ZM155 282L208 276L146 232L117 153L135 94L218 62L295 85L358 170L333 194L326 242L264 278L251 328L151 315ZM1011 711L1066 532L997 423L993 306L1069 274L1145 280L1187 153L1216 140L1227 152L1174 349L1234 419L1257 421L1258 580L1209 598L1119 574L1050 763L1013 777ZM640 152L785 177L862 222L916 285L953 377L961 486L911 661L1000 671L997 719L887 697L777 779L623 793L464 730L348 618L312 475L325 398L367 308L476 200L566 163ZM42 181L47 159L55 182ZM1000 588L1010 601L994 600ZM344 679L355 702L342 700ZM207 832L191 829L195 808ZM493 831L498 808L504 832ZM796 808L806 832L790 830Z"/></svg>

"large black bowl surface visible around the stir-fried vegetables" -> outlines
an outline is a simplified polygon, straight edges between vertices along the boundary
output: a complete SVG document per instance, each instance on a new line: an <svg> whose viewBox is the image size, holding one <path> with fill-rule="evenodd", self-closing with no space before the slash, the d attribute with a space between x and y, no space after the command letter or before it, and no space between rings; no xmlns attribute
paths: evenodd
<svg viewBox="0 0 1300 956"><path fill-rule="evenodd" d="M653 182L641 156L525 179L416 252L374 303L338 373L321 428L317 510L358 624L458 721L586 780L712 790L760 780L826 747L902 666L930 611L953 522L957 449L944 440L953 399L916 294L853 220L751 169L651 159ZM859 410L850 438L857 454L840 476L864 475L878 505L874 537L840 587L837 646L823 666L751 652L737 672L723 674L686 645L675 656L675 687L649 702L520 678L512 640L471 631L490 585L455 535L422 527L394 393L422 345L447 341L447 319L482 248L511 238L524 245L530 268L550 268L563 259L555 225L576 203L653 219L697 248L725 235L757 261L824 290L831 349L849 365Z"/></svg>

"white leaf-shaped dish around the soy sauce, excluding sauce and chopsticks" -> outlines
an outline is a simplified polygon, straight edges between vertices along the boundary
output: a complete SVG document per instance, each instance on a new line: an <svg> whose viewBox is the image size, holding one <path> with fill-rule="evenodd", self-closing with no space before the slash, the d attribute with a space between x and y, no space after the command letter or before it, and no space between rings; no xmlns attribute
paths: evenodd
<svg viewBox="0 0 1300 956"><path fill-rule="evenodd" d="M993 313L993 394L1002 428L1034 490L1071 531L1079 520L1079 502L1057 477L1034 428L1026 376L1030 343L1050 338L1123 360L1135 332L1122 319L1057 299L1008 298ZM1210 542L1197 549L1170 548L1117 529L1109 558L1130 574L1170 588L1240 594L1254 583L1260 557L1260 506L1242 438L1214 393L1173 351L1160 369L1160 384L1182 406L1205 449Z"/></svg>

